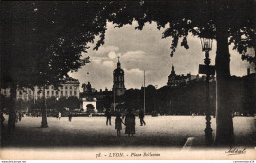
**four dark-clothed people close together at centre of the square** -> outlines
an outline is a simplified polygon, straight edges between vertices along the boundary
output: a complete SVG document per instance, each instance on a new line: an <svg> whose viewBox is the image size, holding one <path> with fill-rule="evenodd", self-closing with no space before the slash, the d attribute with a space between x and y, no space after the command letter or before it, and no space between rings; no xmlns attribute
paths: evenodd
<svg viewBox="0 0 256 163"><path fill-rule="evenodd" d="M106 110L106 125L111 125L111 113ZM141 126L146 125L144 121L144 112L141 109L139 111L139 118ZM135 134L135 115L132 113L131 110L128 110L127 114L125 115L125 120L123 122L124 116L121 118L121 114L117 113L115 118L115 129L117 130L117 136L121 136L122 124L125 125L125 134L128 136L133 136Z"/></svg>

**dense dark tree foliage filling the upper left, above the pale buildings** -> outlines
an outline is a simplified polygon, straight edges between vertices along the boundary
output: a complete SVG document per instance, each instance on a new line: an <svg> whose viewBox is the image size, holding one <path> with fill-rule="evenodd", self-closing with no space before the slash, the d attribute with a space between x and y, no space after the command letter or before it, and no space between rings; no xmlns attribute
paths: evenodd
<svg viewBox="0 0 256 163"><path fill-rule="evenodd" d="M68 72L85 65L81 52L105 31L106 21L100 18L98 5L2 2L1 85L57 84ZM100 44L102 41L96 48Z"/></svg>

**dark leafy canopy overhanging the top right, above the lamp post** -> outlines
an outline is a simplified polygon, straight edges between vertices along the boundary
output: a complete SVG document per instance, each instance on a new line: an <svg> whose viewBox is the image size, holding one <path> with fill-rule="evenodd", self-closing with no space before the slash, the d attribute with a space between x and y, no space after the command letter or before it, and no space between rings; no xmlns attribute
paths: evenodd
<svg viewBox="0 0 256 163"><path fill-rule="evenodd" d="M255 61L255 2L252 0L214 1L214 0L171 0L171 1L123 1L113 2L117 10L109 20L116 27L138 22L136 29L145 23L156 22L158 29L167 27L163 38L172 37L171 56L181 39L181 46L189 48L189 34L216 39L217 27L228 30L229 44L234 44L242 59Z"/></svg>

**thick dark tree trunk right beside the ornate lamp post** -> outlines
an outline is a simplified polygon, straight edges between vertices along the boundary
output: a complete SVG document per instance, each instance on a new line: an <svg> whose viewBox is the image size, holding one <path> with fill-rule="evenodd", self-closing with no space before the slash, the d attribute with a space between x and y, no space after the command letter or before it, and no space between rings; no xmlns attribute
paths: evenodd
<svg viewBox="0 0 256 163"><path fill-rule="evenodd" d="M228 30L223 24L216 27L216 136L215 145L234 144L232 108L230 108L230 54L228 49Z"/></svg>

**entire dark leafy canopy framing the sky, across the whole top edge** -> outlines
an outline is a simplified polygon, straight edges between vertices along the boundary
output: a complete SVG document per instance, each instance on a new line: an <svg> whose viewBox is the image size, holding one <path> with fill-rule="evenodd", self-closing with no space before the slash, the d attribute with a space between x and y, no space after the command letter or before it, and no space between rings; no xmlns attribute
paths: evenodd
<svg viewBox="0 0 256 163"><path fill-rule="evenodd" d="M171 56L179 39L189 48L189 34L216 39L219 30L227 30L242 59L256 63L248 51L255 49L254 8L253 0L2 2L1 81L27 87L60 81L85 64L81 52L96 36L95 49L104 43L107 21L116 27L137 21L136 29L152 21L167 27L162 37L173 37Z"/></svg>

